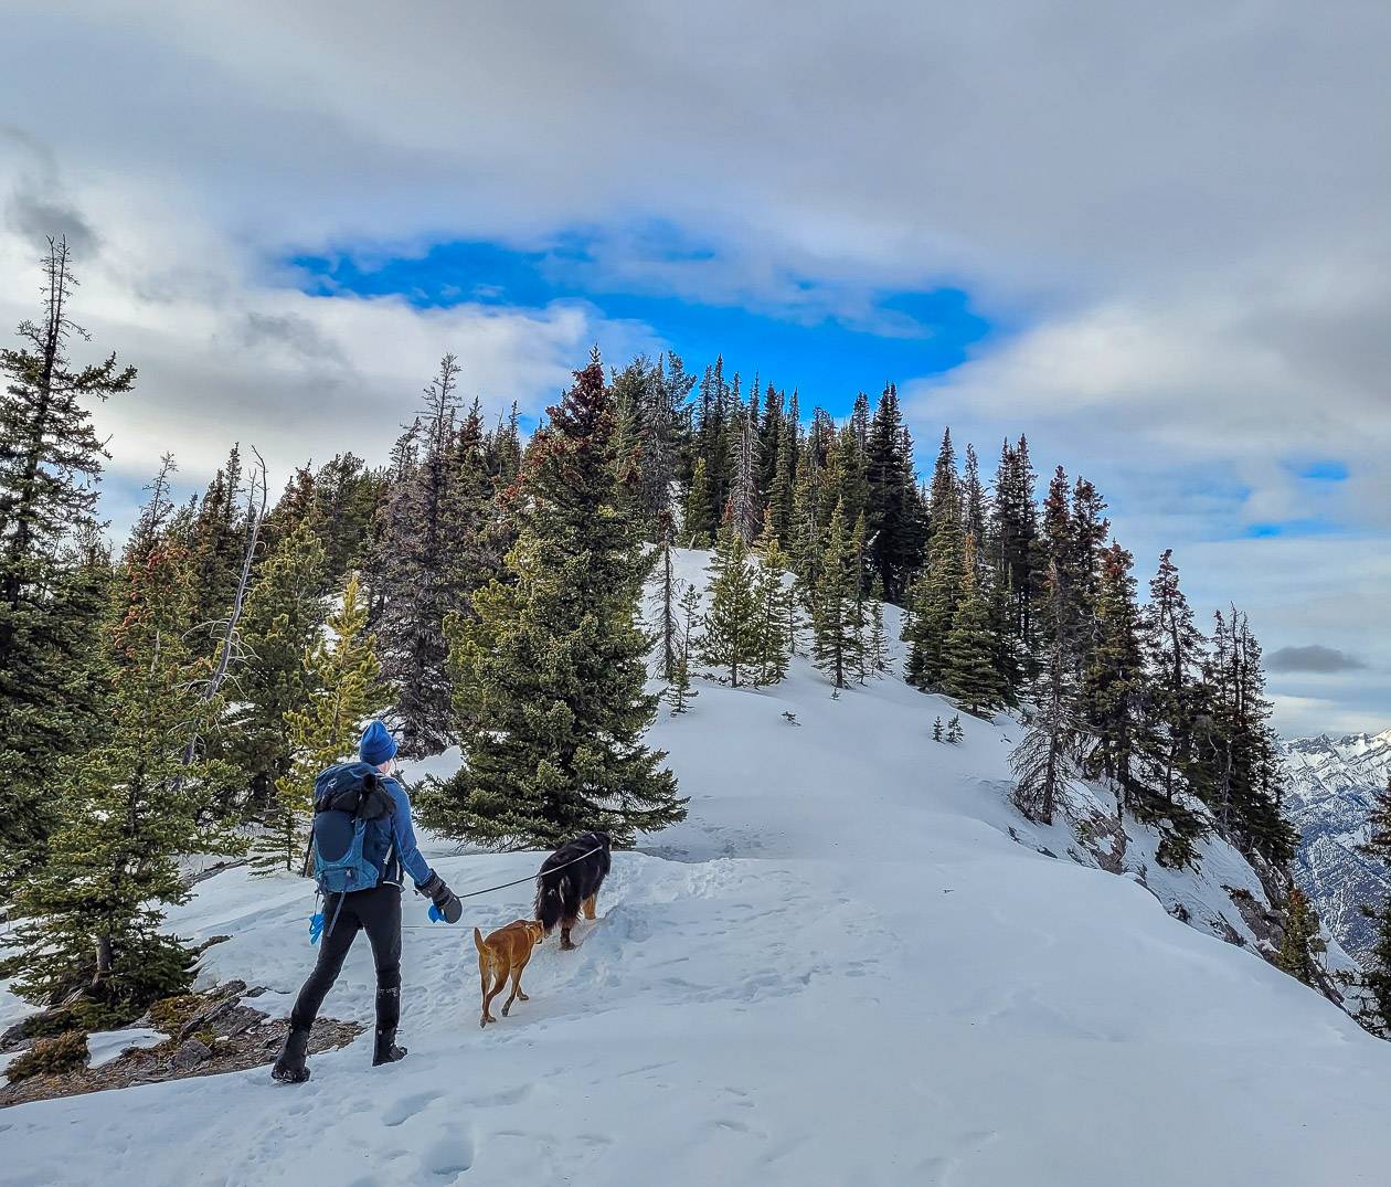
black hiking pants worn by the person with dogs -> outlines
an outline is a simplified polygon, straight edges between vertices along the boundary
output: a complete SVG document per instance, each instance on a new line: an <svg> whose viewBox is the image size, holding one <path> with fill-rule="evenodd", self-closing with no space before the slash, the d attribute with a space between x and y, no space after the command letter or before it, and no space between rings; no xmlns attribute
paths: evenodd
<svg viewBox="0 0 1391 1187"><path fill-rule="evenodd" d="M328 924L332 924L331 932ZM303 1030L314 1024L319 1007L342 971L348 949L357 932L364 931L377 964L377 1030L395 1030L401 1021L401 886L383 882L370 891L330 895L324 899L324 927L319 963L295 999L289 1024Z"/></svg>

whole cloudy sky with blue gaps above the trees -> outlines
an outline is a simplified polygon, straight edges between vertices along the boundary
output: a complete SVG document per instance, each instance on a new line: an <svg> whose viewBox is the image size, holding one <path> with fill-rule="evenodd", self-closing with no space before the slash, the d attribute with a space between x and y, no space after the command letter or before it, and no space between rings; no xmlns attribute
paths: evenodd
<svg viewBox="0 0 1391 1187"><path fill-rule="evenodd" d="M444 351L598 342L921 461L1027 433L1143 577L1248 610L1292 733L1391 725L1391 6L10 0L0 323L78 249L108 513L164 449L385 456Z"/></svg>

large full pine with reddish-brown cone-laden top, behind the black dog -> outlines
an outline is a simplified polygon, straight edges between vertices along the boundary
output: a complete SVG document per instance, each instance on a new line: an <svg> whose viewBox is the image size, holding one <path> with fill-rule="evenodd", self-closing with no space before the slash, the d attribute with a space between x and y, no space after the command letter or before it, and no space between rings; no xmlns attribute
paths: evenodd
<svg viewBox="0 0 1391 1187"><path fill-rule="evenodd" d="M465 765L426 797L448 835L552 847L602 828L619 845L682 820L675 776L643 744L658 697L638 605L652 557L620 513L613 402L598 355L548 411L523 463L502 579L451 619Z"/></svg>

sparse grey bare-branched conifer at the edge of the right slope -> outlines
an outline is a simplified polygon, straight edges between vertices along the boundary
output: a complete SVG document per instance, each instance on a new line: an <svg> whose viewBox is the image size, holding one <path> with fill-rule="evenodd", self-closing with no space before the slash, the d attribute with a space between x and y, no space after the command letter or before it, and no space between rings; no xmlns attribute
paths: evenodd
<svg viewBox="0 0 1391 1187"><path fill-rule="evenodd" d="M1045 580L1047 644L1042 671L1034 689L1034 708L1025 717L1025 735L1010 754L1014 770L1014 800L1022 811L1043 824L1053 822L1057 802L1079 774L1075 678L1068 653L1067 603L1056 561Z"/></svg>

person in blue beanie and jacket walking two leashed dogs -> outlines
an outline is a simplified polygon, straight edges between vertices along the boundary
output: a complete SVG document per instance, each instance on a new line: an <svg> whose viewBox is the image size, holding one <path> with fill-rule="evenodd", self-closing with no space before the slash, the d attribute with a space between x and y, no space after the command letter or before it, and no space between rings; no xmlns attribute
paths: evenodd
<svg viewBox="0 0 1391 1187"><path fill-rule="evenodd" d="M406 1049L396 1046L396 1023L401 1019L401 886L402 870L410 875L416 889L430 898L434 910L448 923L458 923L463 905L458 896L430 868L416 847L410 827L410 799L406 789L391 778L396 740L387 728L374 721L357 743L359 763L330 767L314 782L316 877L323 854L319 853L320 827L338 827L349 832L363 822L362 853L377 875L370 885L324 898L323 918L330 920L319 949L319 963L309 974L295 1009L289 1014L289 1034L285 1046L271 1069L271 1077L287 1084L302 1084L309 1078L305 1055L309 1051L309 1030L314 1024L324 996L338 980L344 957L359 931L367 932L371 956L377 964L377 1033L371 1066L405 1059ZM346 824L342 821L346 820ZM327 881L320 879L320 885ZM431 918L435 917L431 914Z"/></svg>

